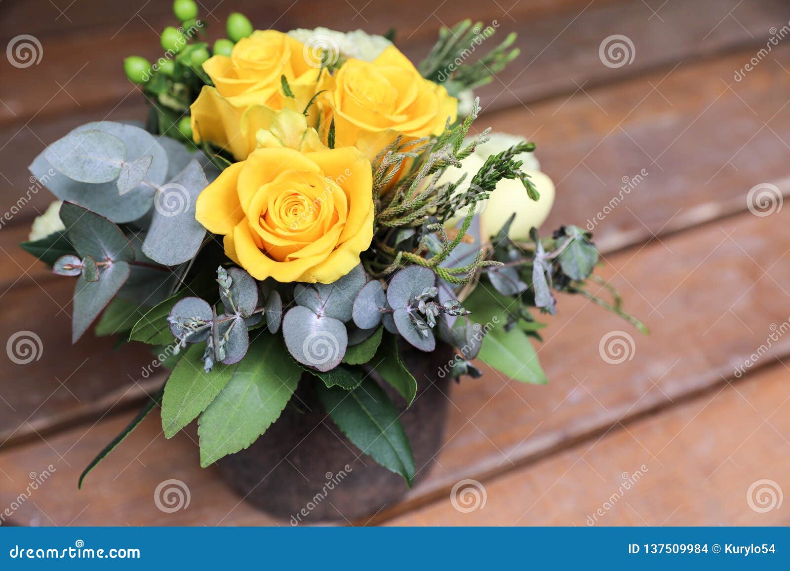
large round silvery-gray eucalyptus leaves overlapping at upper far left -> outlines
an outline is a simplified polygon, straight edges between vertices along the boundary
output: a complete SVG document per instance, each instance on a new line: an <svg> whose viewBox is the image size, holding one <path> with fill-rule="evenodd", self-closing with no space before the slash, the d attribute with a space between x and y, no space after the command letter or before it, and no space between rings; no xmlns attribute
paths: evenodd
<svg viewBox="0 0 790 571"><path fill-rule="evenodd" d="M140 178L148 156L150 165ZM168 162L167 152L147 131L103 121L72 130L36 156L29 168L60 200L120 224L138 220L151 210L154 190L167 179ZM125 164L130 166L122 175ZM137 178L137 186L126 188Z"/></svg>

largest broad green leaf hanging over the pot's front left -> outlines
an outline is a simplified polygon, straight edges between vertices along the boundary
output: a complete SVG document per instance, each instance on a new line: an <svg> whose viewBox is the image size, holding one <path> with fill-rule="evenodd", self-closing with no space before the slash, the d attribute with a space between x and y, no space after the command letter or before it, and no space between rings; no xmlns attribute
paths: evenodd
<svg viewBox="0 0 790 571"><path fill-rule="evenodd" d="M228 385L198 417L203 468L245 449L280 417L302 375L285 351L280 336L259 336Z"/></svg>

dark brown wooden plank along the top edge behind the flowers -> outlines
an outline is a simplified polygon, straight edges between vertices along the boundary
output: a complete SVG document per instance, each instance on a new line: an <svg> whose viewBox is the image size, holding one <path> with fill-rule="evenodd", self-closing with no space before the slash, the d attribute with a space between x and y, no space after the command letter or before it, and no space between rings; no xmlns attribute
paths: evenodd
<svg viewBox="0 0 790 571"><path fill-rule="evenodd" d="M268 2L241 6L224 3L207 21L211 39L224 34L224 17L231 9L246 11L261 28L274 25L288 30L320 25L383 33L395 27L400 31L401 49L415 61L430 50L442 22L453 24L467 17L495 21L499 30L495 37L519 32L517 47L522 53L521 59L501 77L480 90L484 104L504 108L574 92L579 85L589 88L656 66L672 66L682 59L746 45L762 47L769 37L769 28L781 28L790 19L790 7L781 0L746 2L742 6L717 0L670 2L660 9L656 6L656 15L641 0L566 0L558 6L517 2L510 9L500 4L494 0L436 0L427 6L425 2L407 2L406 6L397 2L396 7L376 2L357 13L358 8L349 2L329 11L321 9L318 0L300 2L294 8L291 2L278 2L275 6ZM95 15L108 10L94 8L86 14L83 11L88 10L87 4L73 6L66 12L74 11L71 24L64 17L57 22L58 26L73 30L43 35L40 43L46 55L35 68L17 68L7 60L0 61L0 73L7 77L0 85L0 100L4 103L0 105L0 123L22 124L33 115L53 117L79 107L121 100L130 89L122 73L123 58L130 54L152 61L160 57L157 34L164 25L172 23L167 16L169 6L167 2L151 2L138 15L137 6L119 9L117 13L113 10L112 21L102 18L105 23L101 25ZM56 13L51 5L44 9ZM424 19L415 17L417 13L424 13ZM95 22L95 26L86 28L83 22ZM9 33L16 36L17 32ZM604 38L616 34L632 40L635 57L630 65L614 69L600 61L599 47ZM671 42L667 41L668 35L672 36ZM470 61L477 57L476 46L472 48ZM96 57L97 53L101 57Z"/></svg>

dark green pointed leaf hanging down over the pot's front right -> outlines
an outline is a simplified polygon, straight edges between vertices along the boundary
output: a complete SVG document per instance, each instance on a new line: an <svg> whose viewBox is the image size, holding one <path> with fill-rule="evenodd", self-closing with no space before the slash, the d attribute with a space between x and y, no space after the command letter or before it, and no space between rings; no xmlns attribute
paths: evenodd
<svg viewBox="0 0 790 571"><path fill-rule="evenodd" d="M324 408L333 422L363 453L396 474L411 487L414 455L389 396L371 378L352 391L318 384Z"/></svg>

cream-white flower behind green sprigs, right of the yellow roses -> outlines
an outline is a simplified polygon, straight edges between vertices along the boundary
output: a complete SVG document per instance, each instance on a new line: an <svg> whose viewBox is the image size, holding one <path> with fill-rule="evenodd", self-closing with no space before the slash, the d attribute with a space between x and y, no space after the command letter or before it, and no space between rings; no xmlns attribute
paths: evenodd
<svg viewBox="0 0 790 571"><path fill-rule="evenodd" d="M461 167L448 168L438 183L457 181L461 175L467 173L465 181L459 187L459 191L464 191L489 156L523 141L525 138L517 135L491 133L488 141L483 145L478 145L474 154L461 161ZM515 212L516 218L510 226L510 238L528 239L530 228L540 227L551 212L551 206L554 205L554 183L551 182L551 178L540 171L540 163L536 159L535 153L523 152L515 158L523 161L521 171L529 175L540 193L540 199L533 201L520 180L503 178L498 182L496 188L488 193L488 200L477 205L476 208L476 212L480 214L481 235L486 238L495 235L504 226L510 215ZM461 208L456 212L456 216L448 220L447 224L451 227L455 226L464 216L466 216L466 208Z"/></svg>

